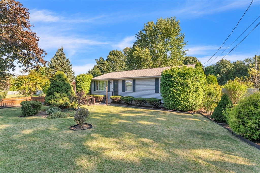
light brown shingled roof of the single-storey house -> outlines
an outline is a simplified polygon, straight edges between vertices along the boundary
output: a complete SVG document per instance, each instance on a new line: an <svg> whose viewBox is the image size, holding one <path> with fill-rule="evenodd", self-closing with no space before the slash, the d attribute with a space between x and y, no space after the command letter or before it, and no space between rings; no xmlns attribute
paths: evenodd
<svg viewBox="0 0 260 173"><path fill-rule="evenodd" d="M177 67L181 67L181 66L182 65ZM190 64L186 66L195 68L195 64ZM140 69L140 70L129 70L129 71L122 71L122 72L111 72L111 73L103 74L101 76L92 78L92 80L155 77L155 76L161 76L162 71L170 68L171 67L159 67L159 68L147 68L147 69Z"/></svg>

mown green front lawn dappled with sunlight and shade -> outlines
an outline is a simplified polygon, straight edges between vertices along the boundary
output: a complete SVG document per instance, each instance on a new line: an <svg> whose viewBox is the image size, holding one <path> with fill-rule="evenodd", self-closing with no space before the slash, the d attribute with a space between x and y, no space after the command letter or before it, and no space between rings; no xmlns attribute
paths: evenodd
<svg viewBox="0 0 260 173"><path fill-rule="evenodd" d="M73 117L0 109L0 172L260 171L260 150L201 115L88 108L93 128L79 131Z"/></svg>

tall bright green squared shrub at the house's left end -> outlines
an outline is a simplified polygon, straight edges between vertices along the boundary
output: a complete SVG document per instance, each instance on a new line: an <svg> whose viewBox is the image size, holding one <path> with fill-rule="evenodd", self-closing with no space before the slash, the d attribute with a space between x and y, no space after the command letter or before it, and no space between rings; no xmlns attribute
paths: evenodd
<svg viewBox="0 0 260 173"><path fill-rule="evenodd" d="M75 78L76 92L84 91L86 94L90 91L91 79L93 76L91 74L79 74Z"/></svg>

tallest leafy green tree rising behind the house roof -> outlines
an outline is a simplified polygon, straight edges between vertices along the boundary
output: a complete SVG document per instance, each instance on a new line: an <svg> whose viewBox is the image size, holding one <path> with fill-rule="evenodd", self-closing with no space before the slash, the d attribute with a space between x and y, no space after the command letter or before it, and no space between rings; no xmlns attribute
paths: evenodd
<svg viewBox="0 0 260 173"><path fill-rule="evenodd" d="M136 34L136 41L128 50L127 61L132 69L181 65L185 45L179 20L175 17L159 18L156 23L145 24L144 29ZM147 65L143 63L146 60Z"/></svg>

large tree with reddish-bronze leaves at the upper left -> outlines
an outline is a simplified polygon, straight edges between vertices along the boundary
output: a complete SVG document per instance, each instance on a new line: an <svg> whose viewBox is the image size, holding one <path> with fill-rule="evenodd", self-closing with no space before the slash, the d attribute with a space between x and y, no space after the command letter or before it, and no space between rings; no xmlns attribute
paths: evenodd
<svg viewBox="0 0 260 173"><path fill-rule="evenodd" d="M39 37L31 30L28 9L14 0L0 1L0 77L20 67L45 65L46 52L38 47Z"/></svg>

